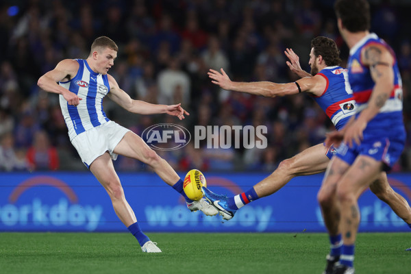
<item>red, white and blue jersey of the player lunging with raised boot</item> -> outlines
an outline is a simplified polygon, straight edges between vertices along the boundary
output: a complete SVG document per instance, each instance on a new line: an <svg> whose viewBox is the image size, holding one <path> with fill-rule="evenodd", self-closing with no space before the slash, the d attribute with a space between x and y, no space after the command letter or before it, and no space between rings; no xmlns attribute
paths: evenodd
<svg viewBox="0 0 411 274"><path fill-rule="evenodd" d="M313 97L331 119L337 130L342 129L349 117L356 113L356 101L349 85L348 70L340 66L327 66L316 75L327 81L323 94Z"/></svg>

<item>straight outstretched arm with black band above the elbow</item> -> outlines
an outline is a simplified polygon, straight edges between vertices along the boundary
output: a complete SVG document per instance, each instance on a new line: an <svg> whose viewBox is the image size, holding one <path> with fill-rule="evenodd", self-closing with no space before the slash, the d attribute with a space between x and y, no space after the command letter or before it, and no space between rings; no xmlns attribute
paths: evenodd
<svg viewBox="0 0 411 274"><path fill-rule="evenodd" d="M212 79L211 82L213 84L225 90L245 92L251 95L262 95L264 97L294 95L299 93L300 90L301 92L310 92L313 95L321 96L327 86L327 81L320 75L299 79L296 82L298 85L294 82L287 84L277 84L273 82L233 82L223 69L221 69L221 73L210 69L210 71L208 71L208 77Z"/></svg>

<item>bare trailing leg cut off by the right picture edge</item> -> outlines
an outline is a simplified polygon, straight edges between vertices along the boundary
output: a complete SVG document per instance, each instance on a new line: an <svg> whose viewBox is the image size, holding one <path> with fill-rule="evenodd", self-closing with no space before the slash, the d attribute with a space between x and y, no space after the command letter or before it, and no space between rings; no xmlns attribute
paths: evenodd
<svg viewBox="0 0 411 274"><path fill-rule="evenodd" d="M385 172L380 173L378 179L370 186L371 191L377 197L390 206L390 208L403 219L408 225L411 224L411 208L407 200L399 195L388 184L387 175Z"/></svg>

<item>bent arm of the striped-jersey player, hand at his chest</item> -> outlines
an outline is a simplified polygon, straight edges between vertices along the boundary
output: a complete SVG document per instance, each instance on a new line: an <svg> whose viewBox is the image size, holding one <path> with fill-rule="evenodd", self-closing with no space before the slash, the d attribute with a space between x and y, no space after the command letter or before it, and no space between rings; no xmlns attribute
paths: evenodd
<svg viewBox="0 0 411 274"><path fill-rule="evenodd" d="M76 60L66 59L60 61L55 69L45 73L38 79L37 85L47 92L63 95L69 105L78 105L82 98L79 98L70 90L58 85L57 82L70 80L77 74L79 63Z"/></svg>

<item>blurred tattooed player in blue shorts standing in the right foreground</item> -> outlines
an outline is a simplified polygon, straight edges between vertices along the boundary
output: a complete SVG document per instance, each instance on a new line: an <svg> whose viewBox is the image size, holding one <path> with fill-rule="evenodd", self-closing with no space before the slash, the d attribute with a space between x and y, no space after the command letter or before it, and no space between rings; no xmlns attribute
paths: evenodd
<svg viewBox="0 0 411 274"><path fill-rule="evenodd" d="M369 3L337 0L334 8L338 29L350 49L349 83L358 112L342 131L327 136L326 145L341 145L327 168L318 197L329 235L343 236L339 263L332 273L354 273L358 198L398 160L406 132L397 60L386 42L369 32Z"/></svg>

